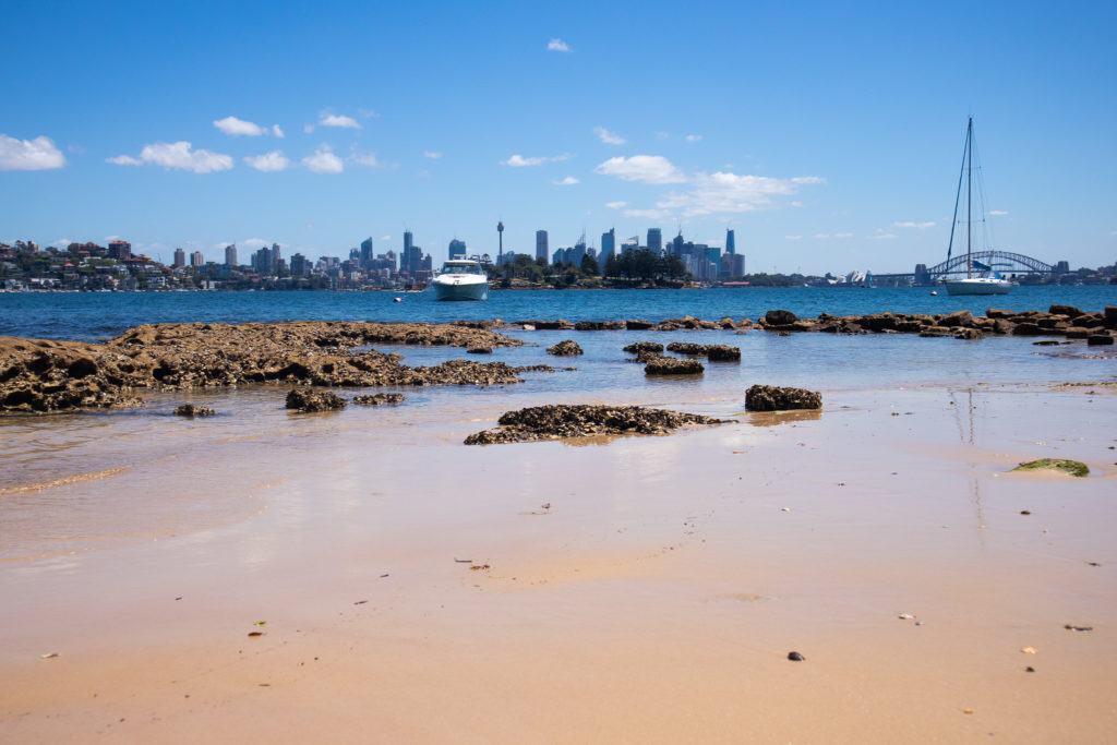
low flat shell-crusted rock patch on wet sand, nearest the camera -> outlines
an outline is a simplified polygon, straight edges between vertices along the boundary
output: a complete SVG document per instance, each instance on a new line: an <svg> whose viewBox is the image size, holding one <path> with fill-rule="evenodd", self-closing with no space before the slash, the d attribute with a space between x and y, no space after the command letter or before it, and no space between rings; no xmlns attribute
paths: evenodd
<svg viewBox="0 0 1117 745"><path fill-rule="evenodd" d="M498 429L477 432L466 445L531 442L600 434L667 434L681 427L719 424L722 420L665 409L552 404L508 411Z"/></svg>

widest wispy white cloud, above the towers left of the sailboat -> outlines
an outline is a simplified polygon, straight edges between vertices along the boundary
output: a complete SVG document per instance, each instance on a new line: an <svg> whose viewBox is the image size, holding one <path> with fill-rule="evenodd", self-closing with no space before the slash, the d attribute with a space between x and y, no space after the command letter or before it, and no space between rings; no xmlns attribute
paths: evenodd
<svg viewBox="0 0 1117 745"><path fill-rule="evenodd" d="M671 193L656 203L660 209L681 209L684 217L717 212L751 212L773 204L774 197L795 194L800 187L823 183L819 176L772 179L717 172L698 173L690 179L695 188ZM796 206L792 202L793 206Z"/></svg>

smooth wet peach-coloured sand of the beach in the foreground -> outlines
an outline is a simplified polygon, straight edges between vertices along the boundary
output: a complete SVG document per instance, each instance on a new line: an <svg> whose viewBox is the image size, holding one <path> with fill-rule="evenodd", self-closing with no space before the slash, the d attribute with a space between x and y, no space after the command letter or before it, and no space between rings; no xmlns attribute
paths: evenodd
<svg viewBox="0 0 1117 745"><path fill-rule="evenodd" d="M467 448L474 397L50 487L233 504L0 563L0 741L1113 741L1117 395L657 391L736 422Z"/></svg>

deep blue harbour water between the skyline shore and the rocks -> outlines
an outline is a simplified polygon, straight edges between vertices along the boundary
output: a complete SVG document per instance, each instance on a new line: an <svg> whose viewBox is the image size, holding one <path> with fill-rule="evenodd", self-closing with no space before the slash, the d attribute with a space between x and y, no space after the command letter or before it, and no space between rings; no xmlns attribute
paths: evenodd
<svg viewBox="0 0 1117 745"><path fill-rule="evenodd" d="M686 290L493 290L484 303L438 303L431 293L3 293L0 335L103 341L145 323L277 321L432 321L566 318L661 321L756 318L783 308L820 313L953 313L989 307L1046 311L1051 304L1100 311L1117 285L1016 287L1008 296L932 295L926 287L713 288ZM400 302L395 302L400 298Z"/></svg>

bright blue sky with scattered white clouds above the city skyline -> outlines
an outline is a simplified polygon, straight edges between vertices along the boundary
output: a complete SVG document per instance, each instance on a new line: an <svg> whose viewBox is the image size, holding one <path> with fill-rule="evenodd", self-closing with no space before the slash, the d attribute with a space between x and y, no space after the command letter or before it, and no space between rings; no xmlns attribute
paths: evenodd
<svg viewBox="0 0 1117 745"><path fill-rule="evenodd" d="M750 271L946 255L966 117L992 246L1117 258L1113 2L0 8L0 240L437 260L659 227ZM280 136L281 135L281 136Z"/></svg>

